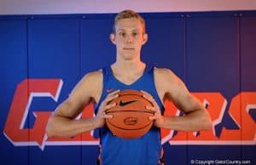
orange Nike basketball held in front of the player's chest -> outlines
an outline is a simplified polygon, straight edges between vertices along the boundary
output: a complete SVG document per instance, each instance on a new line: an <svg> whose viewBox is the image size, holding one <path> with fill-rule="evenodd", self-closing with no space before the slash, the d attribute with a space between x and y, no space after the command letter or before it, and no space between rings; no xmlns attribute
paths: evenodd
<svg viewBox="0 0 256 165"><path fill-rule="evenodd" d="M118 94L118 98L109 102L109 104L116 103L116 106L106 111L113 116L106 119L108 128L113 135L124 139L143 136L153 124L148 117L154 116L154 111L146 109L147 105L152 106L152 104L143 98L143 93L137 90L124 90Z"/></svg>

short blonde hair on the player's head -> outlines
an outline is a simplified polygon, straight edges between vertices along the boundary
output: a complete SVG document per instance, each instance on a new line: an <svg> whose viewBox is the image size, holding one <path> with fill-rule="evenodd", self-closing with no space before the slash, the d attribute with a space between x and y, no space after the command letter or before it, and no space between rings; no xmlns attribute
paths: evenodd
<svg viewBox="0 0 256 165"><path fill-rule="evenodd" d="M143 25L143 33L146 32L146 23L143 17L140 14L137 14L135 11L132 11L131 9L125 9L115 16L112 33L115 33L115 25L119 20L130 18L137 18L138 20L140 20Z"/></svg>

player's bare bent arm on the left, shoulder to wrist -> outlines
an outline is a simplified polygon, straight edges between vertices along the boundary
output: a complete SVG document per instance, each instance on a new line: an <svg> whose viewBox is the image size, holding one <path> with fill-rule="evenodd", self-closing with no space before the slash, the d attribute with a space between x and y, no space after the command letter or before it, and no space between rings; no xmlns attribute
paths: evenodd
<svg viewBox="0 0 256 165"><path fill-rule="evenodd" d="M98 100L101 94L102 72L95 71L85 75L67 100L61 103L49 118L46 128L48 136L72 137L101 127L104 117L74 120L84 110L85 105L92 100Z"/></svg>

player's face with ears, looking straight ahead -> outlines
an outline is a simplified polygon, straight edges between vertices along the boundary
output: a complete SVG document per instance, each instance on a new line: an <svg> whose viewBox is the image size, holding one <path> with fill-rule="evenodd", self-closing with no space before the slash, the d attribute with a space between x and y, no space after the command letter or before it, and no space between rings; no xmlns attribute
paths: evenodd
<svg viewBox="0 0 256 165"><path fill-rule="evenodd" d="M148 36L143 32L143 24L137 18L119 20L115 25L115 34L110 35L116 45L119 58L134 60L140 58L141 48Z"/></svg>

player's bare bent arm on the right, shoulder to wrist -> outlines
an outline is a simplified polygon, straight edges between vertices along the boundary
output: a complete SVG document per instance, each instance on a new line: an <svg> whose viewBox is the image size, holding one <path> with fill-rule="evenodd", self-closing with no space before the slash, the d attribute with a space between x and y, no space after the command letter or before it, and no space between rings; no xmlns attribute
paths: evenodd
<svg viewBox="0 0 256 165"><path fill-rule="evenodd" d="M157 127L182 131L212 128L211 117L205 107L189 93L184 83L172 71L155 69L154 81L160 98L171 100L185 114L183 117L163 117L160 111L157 111L153 118ZM150 98L148 99L150 100ZM156 109L159 110L159 107L154 108L154 111Z"/></svg>

